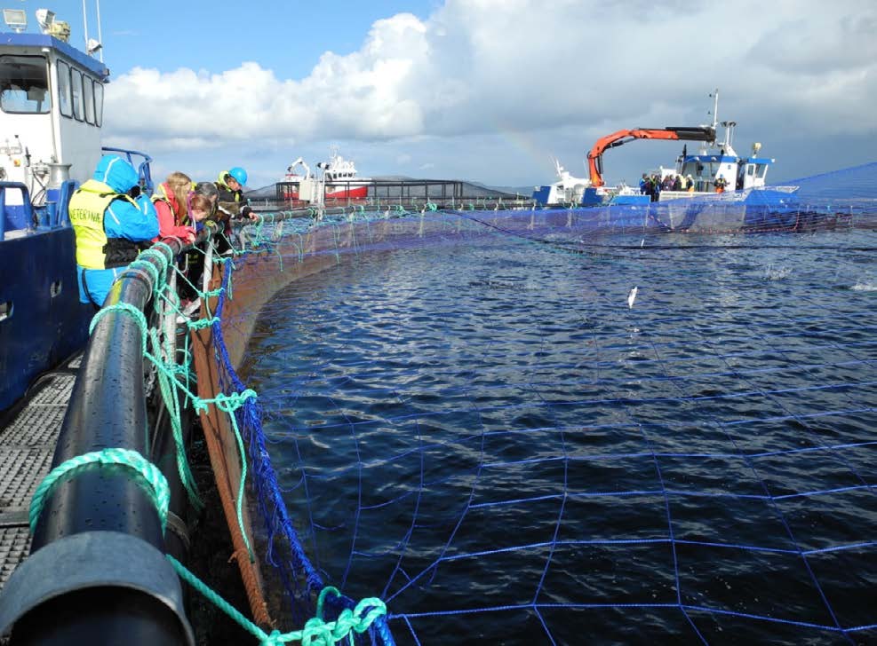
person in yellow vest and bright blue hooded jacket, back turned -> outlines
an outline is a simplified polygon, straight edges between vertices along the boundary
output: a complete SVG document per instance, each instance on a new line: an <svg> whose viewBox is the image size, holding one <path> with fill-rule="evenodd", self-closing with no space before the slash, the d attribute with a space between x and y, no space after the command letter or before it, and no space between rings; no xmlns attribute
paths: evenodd
<svg viewBox="0 0 877 646"><path fill-rule="evenodd" d="M70 198L82 303L101 307L113 281L137 258L140 245L158 235L155 207L140 194L139 179L124 159L104 155L92 179Z"/></svg>

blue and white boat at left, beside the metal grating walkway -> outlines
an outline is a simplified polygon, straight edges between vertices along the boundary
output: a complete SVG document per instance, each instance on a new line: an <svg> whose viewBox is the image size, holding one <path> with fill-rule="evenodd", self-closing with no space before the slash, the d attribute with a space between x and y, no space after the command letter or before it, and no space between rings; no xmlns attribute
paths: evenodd
<svg viewBox="0 0 877 646"><path fill-rule="evenodd" d="M79 303L67 206L102 154L109 70L100 43L80 51L67 22L36 18L40 33L28 33L24 11L4 10L0 32L0 411L82 349L94 313ZM140 155L151 188L149 158L116 152Z"/></svg>

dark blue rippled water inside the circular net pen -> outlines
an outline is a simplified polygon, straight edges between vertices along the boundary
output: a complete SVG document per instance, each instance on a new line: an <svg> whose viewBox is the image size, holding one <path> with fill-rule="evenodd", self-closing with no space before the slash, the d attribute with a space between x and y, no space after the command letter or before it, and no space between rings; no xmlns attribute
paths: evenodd
<svg viewBox="0 0 877 646"><path fill-rule="evenodd" d="M343 256L242 375L307 554L397 643L877 643L875 248Z"/></svg>

